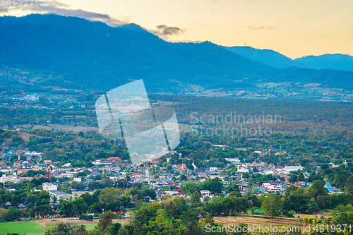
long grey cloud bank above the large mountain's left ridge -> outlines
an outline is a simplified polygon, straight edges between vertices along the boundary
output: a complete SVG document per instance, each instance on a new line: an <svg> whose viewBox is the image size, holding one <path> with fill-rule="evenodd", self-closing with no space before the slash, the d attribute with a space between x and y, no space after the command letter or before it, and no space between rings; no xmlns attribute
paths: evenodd
<svg viewBox="0 0 353 235"><path fill-rule="evenodd" d="M11 6L8 8L0 8L1 13L11 13L13 11L32 11L34 13L53 13L60 16L76 16L79 18L85 18L91 21L102 21L107 23L110 26L123 25L128 23L128 20L119 20L116 18L112 18L107 14L100 14L90 11L83 11L81 9L68 9L67 4L61 4L55 0L49 1L37 1L37 4L33 3L32 6Z"/></svg>

